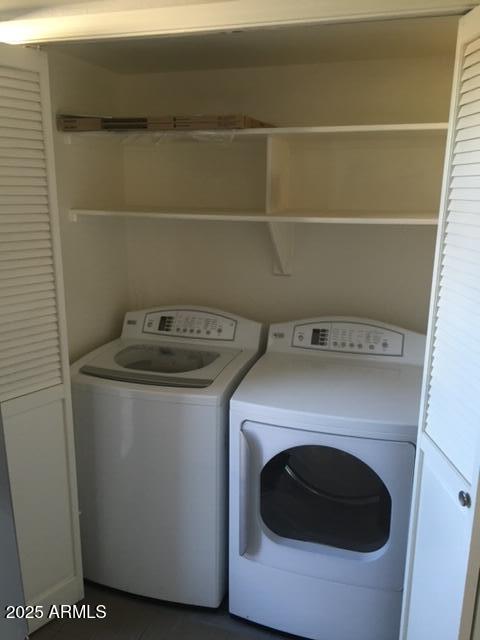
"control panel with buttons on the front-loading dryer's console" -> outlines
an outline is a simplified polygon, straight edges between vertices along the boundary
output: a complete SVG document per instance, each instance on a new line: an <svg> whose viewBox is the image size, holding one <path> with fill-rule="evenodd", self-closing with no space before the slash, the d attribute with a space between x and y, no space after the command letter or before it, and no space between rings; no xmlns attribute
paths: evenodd
<svg viewBox="0 0 480 640"><path fill-rule="evenodd" d="M309 322L295 325L293 347L375 356L402 356L405 335L360 322Z"/></svg>

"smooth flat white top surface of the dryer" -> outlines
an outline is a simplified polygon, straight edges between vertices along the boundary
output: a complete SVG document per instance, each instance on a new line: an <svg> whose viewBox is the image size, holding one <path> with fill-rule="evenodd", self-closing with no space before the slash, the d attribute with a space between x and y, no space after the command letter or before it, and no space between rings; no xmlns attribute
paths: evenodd
<svg viewBox="0 0 480 640"><path fill-rule="evenodd" d="M352 423L418 423L422 367L329 355L266 353L232 397L280 409Z"/></svg>

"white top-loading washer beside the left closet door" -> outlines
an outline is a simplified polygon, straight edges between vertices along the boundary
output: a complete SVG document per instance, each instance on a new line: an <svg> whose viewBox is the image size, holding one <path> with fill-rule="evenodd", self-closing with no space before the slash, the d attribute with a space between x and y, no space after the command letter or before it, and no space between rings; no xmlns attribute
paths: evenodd
<svg viewBox="0 0 480 640"><path fill-rule="evenodd" d="M205 607L226 586L228 402L262 326L163 307L73 365L85 576Z"/></svg>

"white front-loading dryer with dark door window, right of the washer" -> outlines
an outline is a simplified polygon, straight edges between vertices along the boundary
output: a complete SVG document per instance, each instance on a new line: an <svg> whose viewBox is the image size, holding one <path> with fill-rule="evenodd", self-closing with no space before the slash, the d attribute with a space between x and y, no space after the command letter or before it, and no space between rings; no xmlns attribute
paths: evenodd
<svg viewBox="0 0 480 640"><path fill-rule="evenodd" d="M315 640L398 640L425 337L270 327L231 400L230 612Z"/></svg>

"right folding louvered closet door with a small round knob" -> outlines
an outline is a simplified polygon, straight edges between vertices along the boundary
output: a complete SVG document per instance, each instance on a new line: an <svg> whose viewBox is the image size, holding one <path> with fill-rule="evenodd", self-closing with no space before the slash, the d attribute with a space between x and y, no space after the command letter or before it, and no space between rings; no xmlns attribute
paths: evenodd
<svg viewBox="0 0 480 640"><path fill-rule="evenodd" d="M460 20L420 417L402 640L470 640L480 574L480 9Z"/></svg>

